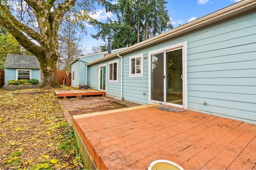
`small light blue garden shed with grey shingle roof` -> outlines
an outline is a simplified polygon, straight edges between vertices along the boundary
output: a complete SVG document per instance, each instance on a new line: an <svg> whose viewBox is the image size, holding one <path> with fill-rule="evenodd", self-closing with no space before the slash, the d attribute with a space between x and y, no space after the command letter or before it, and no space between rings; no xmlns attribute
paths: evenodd
<svg viewBox="0 0 256 170"><path fill-rule="evenodd" d="M4 85L8 85L9 80L40 80L40 77L40 64L36 56L7 54L4 62Z"/></svg>

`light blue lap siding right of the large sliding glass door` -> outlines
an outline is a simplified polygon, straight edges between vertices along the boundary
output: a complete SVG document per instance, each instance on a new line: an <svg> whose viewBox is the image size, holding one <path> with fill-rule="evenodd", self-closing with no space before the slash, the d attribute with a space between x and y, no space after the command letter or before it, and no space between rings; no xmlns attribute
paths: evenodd
<svg viewBox="0 0 256 170"><path fill-rule="evenodd" d="M255 30L250 11L190 37L188 109L256 122Z"/></svg>

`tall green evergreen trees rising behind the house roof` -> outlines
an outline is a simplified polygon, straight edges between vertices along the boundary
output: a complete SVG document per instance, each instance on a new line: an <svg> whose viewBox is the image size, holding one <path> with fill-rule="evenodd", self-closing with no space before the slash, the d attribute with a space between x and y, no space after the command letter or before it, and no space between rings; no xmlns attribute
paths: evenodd
<svg viewBox="0 0 256 170"><path fill-rule="evenodd" d="M113 37L112 47L122 48L134 45L150 37L172 29L165 0L118 0L105 1L106 12L116 15L116 20L108 18L106 23L97 20L89 23L98 29L95 39L106 41Z"/></svg>

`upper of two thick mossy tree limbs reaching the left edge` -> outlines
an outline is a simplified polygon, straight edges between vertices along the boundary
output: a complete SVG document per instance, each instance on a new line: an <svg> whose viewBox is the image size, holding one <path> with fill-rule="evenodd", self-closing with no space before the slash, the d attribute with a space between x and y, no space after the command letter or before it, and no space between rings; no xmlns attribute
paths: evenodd
<svg viewBox="0 0 256 170"><path fill-rule="evenodd" d="M16 27L22 31L24 31L28 36L30 36L32 39L36 40L41 46L44 46L44 41L42 39L42 35L40 35L38 32L34 31L30 27L26 26L25 24L21 23L20 21L16 20L14 16L10 13L8 8L4 5L0 6L0 9L4 13L4 15L12 22Z"/></svg>

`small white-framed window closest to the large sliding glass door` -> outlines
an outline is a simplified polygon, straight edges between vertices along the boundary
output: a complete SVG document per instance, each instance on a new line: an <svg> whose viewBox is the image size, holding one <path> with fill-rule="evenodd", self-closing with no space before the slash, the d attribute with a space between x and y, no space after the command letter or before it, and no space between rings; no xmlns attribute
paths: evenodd
<svg viewBox="0 0 256 170"><path fill-rule="evenodd" d="M130 57L130 77L143 76L143 54Z"/></svg>

